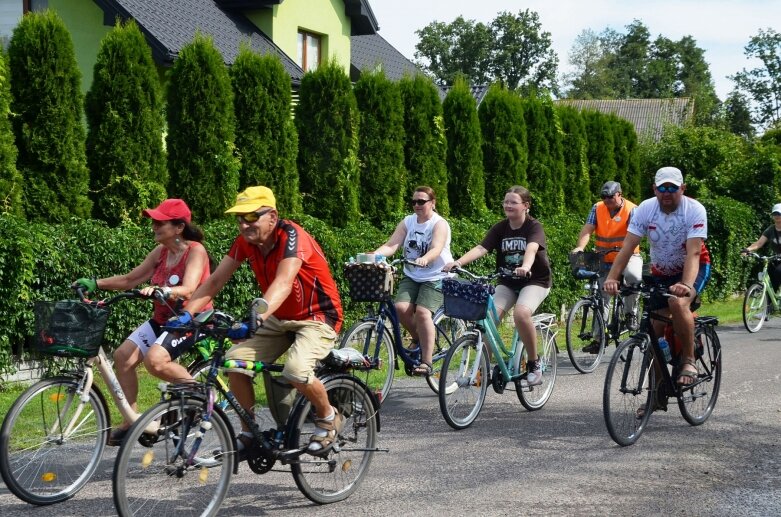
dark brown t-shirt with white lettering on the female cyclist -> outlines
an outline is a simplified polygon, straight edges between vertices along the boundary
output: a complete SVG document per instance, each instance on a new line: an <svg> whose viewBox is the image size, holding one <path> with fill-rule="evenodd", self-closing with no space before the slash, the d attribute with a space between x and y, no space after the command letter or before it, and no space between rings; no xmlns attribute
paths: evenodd
<svg viewBox="0 0 781 517"><path fill-rule="evenodd" d="M545 231L537 219L527 216L523 225L515 230L510 228L510 221L507 219L500 221L488 230L480 245L489 252L496 251L497 269L502 267L515 269L523 264L526 246L531 242L536 242L540 246L532 264L531 278L517 280L503 278L499 280L501 285L516 290L527 285L551 287L551 269L545 244Z"/></svg>

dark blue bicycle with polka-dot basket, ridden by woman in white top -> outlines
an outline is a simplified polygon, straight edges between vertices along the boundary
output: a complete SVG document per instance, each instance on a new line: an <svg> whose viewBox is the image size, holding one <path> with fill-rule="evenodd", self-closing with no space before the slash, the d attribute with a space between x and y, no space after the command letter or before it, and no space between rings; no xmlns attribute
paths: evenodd
<svg viewBox="0 0 781 517"><path fill-rule="evenodd" d="M380 403L388 397L395 370L401 361L407 375L421 362L420 346L404 346L403 328L399 322L396 307L391 300L393 275L399 263L416 266L412 261L397 259L391 263L346 264L345 276L350 281L350 297L355 301L377 303L369 306L369 312L356 322L341 339L340 348L354 348L362 351L368 364L359 367L361 379L374 392ZM426 375L426 382L436 393L439 391L439 368L448 349L466 331L466 323L453 319L440 307L432 315L434 322L434 348L432 373Z"/></svg>

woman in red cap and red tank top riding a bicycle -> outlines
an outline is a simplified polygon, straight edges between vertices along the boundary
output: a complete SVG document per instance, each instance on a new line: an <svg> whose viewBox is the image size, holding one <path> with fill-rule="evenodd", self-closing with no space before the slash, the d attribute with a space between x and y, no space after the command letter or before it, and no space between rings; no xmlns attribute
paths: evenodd
<svg viewBox="0 0 781 517"><path fill-rule="evenodd" d="M203 247L203 232L190 222L191 214L181 199L166 199L157 208L144 210L152 219L152 231L157 246L143 262L124 275L108 278L79 278L74 285L87 292L96 289L121 291L149 282L141 294L152 297L160 290L168 305L178 309L186 305L193 291L209 278L209 256ZM206 307L210 308L210 307ZM205 308L205 309L206 309ZM142 323L114 352L114 367L128 403L138 411L138 377L136 367L144 363L152 375L168 382L190 379L187 370L174 360L186 351L192 342L174 339L160 326L175 316L171 309L155 300L152 318ZM111 431L109 445L120 445L132 422L122 422Z"/></svg>

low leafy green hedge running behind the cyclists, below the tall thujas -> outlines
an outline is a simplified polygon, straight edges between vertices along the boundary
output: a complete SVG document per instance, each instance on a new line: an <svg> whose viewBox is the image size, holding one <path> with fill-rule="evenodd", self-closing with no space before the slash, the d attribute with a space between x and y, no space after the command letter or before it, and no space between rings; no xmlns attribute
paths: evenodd
<svg viewBox="0 0 781 517"><path fill-rule="evenodd" d="M713 279L706 298L728 296L745 285L748 264L740 261L737 250L753 242L760 225L751 209L728 198L705 200L711 237L708 247L713 256ZM353 303L342 278L342 265L357 253L375 249L393 232L403 214L376 228L364 221L335 228L308 215L292 216L320 243L331 263L345 306L345 327L366 311L365 304ZM584 214L585 217L585 214ZM457 258L482 240L488 228L500 220L496 215L475 218L450 218L451 248ZM548 239L548 254L553 268L553 289L541 311L561 313L582 293L582 286L569 272L567 255L575 244L582 218L561 215L541 218ZM746 224L749 222L750 224ZM237 235L236 225L222 219L204 225L205 242L212 257L219 261ZM81 276L104 277L129 271L139 264L155 243L150 228L126 223L110 228L97 220L73 218L62 224L30 223L0 214L0 314L5 315L0 329L0 376L13 368L12 353L28 350L33 331L33 302L73 296L69 286ZM470 265L470 270L493 270L494 257L488 256ZM99 296L110 293L101 292ZM252 271L242 266L216 299L216 306L231 314L241 314L247 303L259 295ZM148 318L150 306L134 301L118 306L111 316L106 342L116 345Z"/></svg>

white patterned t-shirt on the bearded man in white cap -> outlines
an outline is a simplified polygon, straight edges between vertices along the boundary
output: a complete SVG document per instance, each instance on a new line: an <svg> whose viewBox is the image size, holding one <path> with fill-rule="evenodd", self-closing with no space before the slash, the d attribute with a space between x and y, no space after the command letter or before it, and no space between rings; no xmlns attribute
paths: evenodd
<svg viewBox="0 0 781 517"><path fill-rule="evenodd" d="M652 197L635 208L629 233L648 237L655 275L673 276L683 272L686 240L708 237L708 216L705 207L690 197L681 197L678 208L669 214L662 212L659 201Z"/></svg>

